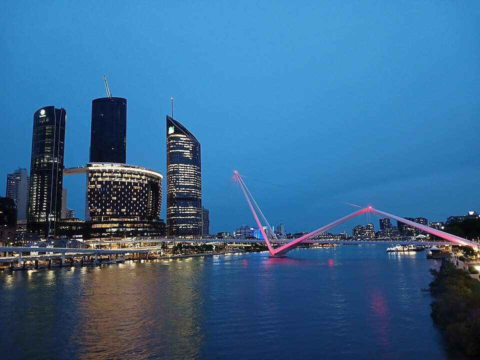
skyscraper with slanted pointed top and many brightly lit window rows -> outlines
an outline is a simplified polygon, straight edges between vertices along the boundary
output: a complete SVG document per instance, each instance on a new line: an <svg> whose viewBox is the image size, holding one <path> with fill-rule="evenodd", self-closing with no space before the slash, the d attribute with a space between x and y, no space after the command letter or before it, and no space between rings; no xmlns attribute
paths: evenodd
<svg viewBox="0 0 480 360"><path fill-rule="evenodd" d="M200 142L166 116L166 231L168 236L201 235Z"/></svg>

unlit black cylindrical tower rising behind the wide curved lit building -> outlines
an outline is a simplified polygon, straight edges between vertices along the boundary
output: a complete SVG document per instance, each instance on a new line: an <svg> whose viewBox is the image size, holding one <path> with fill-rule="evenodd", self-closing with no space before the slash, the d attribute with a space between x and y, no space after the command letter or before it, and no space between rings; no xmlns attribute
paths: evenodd
<svg viewBox="0 0 480 360"><path fill-rule="evenodd" d="M126 99L91 101L90 162L126 162Z"/></svg>

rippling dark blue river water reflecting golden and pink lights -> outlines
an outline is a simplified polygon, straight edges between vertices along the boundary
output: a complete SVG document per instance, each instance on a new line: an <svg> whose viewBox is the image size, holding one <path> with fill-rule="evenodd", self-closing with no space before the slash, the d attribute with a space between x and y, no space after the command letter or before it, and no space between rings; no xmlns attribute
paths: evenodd
<svg viewBox="0 0 480 360"><path fill-rule="evenodd" d="M433 266L341 245L0 271L0 358L446 359Z"/></svg>

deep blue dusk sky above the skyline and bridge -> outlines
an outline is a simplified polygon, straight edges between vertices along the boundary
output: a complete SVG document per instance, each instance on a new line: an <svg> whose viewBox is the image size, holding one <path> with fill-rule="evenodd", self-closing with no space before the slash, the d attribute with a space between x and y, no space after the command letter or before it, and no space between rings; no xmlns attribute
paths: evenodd
<svg viewBox="0 0 480 360"><path fill-rule="evenodd" d="M434 221L480 210L479 1L0 8L1 196L6 173L29 170L43 106L66 109L65 166L88 161L105 75L112 96L127 99L127 163L163 175L174 97L173 117L201 143L211 233L254 224L235 169L287 232L355 210L343 202ZM82 218L84 175L65 176L64 187ZM165 199L164 178L163 218Z"/></svg>

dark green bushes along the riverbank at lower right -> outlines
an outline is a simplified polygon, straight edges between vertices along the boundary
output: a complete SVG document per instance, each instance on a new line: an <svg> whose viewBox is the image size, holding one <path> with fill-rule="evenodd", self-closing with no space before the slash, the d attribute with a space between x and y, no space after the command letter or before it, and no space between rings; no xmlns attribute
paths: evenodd
<svg viewBox="0 0 480 360"><path fill-rule="evenodd" d="M480 358L480 282L467 271L443 260L430 269L429 290L435 300L431 317L440 328L447 350L468 358Z"/></svg>

